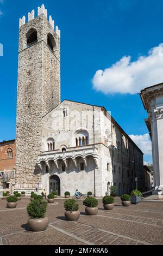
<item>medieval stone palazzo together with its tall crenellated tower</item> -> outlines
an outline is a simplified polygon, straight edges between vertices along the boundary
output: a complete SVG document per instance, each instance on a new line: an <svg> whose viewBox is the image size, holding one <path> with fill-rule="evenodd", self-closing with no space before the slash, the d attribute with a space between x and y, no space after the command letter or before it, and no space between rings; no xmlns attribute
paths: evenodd
<svg viewBox="0 0 163 256"><path fill-rule="evenodd" d="M20 19L15 189L96 197L143 187L143 153L103 106L60 103L60 31L44 5Z"/></svg>

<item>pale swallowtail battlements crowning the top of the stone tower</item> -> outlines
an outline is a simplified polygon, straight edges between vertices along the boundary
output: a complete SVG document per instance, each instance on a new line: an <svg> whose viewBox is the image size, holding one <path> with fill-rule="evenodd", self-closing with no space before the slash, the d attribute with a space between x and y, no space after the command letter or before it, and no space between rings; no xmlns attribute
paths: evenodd
<svg viewBox="0 0 163 256"><path fill-rule="evenodd" d="M45 9L45 5L42 4L41 7L37 8L37 16L40 16L41 14L44 14L46 16L46 19L48 19L47 9ZM31 13L28 13L28 22L33 20L35 18L35 11L32 10ZM52 16L49 15L49 23L51 24L53 30L58 34L60 37L60 30L58 26L54 27L54 20L52 19ZM21 19L19 19L19 27L26 24L26 16L23 16Z"/></svg>

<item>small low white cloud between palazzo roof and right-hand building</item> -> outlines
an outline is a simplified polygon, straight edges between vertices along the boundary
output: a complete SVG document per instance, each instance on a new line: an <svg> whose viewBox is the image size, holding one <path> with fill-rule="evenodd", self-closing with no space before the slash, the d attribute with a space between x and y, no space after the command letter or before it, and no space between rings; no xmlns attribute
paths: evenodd
<svg viewBox="0 0 163 256"><path fill-rule="evenodd" d="M148 156L152 155L152 143L148 133L143 135L129 135L141 151Z"/></svg>

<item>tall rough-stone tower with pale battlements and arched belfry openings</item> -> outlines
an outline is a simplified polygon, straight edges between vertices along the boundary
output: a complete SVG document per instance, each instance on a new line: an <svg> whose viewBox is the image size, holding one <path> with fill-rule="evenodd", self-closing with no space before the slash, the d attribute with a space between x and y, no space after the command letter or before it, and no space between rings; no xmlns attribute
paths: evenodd
<svg viewBox="0 0 163 256"><path fill-rule="evenodd" d="M42 4L20 19L16 116L15 189L27 193L41 183L42 117L60 103L60 31Z"/></svg>

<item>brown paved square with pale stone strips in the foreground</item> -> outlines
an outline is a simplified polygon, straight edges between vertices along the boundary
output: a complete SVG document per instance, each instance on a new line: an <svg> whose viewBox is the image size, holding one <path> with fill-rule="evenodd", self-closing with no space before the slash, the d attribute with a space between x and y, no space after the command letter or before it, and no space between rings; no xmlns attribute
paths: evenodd
<svg viewBox="0 0 163 256"><path fill-rule="evenodd" d="M29 198L8 209L0 200L0 245L163 245L163 203L141 201L122 207L119 198L114 209L103 209L99 199L96 216L86 216L79 200L80 218L68 222L64 217L64 199L48 205L48 229L41 233L29 231L26 207Z"/></svg>

